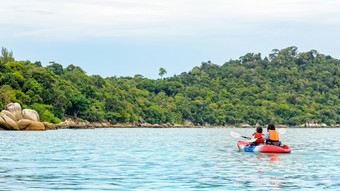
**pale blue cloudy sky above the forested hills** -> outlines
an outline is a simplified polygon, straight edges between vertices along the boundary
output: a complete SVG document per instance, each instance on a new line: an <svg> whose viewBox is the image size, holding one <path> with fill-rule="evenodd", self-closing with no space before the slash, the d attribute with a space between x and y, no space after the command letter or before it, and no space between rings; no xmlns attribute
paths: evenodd
<svg viewBox="0 0 340 191"><path fill-rule="evenodd" d="M290 46L340 59L338 0L0 0L16 60L157 79Z"/></svg>

